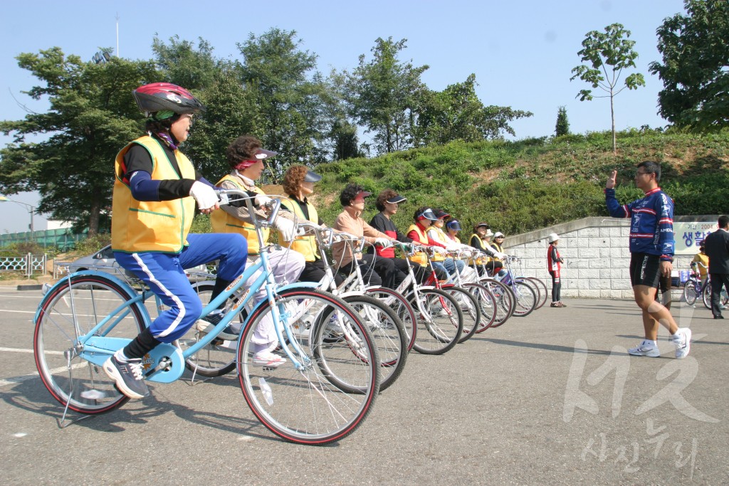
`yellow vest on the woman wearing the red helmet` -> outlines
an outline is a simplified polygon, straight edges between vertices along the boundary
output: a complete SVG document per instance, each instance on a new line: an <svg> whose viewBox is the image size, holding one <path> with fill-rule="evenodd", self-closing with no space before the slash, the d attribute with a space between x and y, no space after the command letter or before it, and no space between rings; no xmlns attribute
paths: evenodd
<svg viewBox="0 0 729 486"><path fill-rule="evenodd" d="M134 199L130 187L122 181L125 174L121 173L124 155L133 144L144 146L152 157L152 179L181 179L160 142L151 136L137 138L120 150L114 160L112 249L127 253L179 253L187 246L187 233L195 216L195 200L190 196L168 201ZM192 162L179 150L174 153L182 179L194 180Z"/></svg>

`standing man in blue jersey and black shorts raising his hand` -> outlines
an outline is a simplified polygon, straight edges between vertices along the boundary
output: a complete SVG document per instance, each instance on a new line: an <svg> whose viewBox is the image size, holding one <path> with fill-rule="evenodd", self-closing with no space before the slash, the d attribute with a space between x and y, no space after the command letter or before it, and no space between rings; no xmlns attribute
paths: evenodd
<svg viewBox="0 0 729 486"><path fill-rule="evenodd" d="M633 356L660 356L658 324L663 324L676 346L676 357L685 358L691 346L691 329L679 328L671 312L656 302L655 294L661 275L671 275L674 256L674 202L658 187L660 164L641 162L636 170L636 187L644 196L620 205L615 199L615 177L612 171L605 184L607 211L614 218L631 218L631 286L636 304L643 311L645 339L628 350Z"/></svg>

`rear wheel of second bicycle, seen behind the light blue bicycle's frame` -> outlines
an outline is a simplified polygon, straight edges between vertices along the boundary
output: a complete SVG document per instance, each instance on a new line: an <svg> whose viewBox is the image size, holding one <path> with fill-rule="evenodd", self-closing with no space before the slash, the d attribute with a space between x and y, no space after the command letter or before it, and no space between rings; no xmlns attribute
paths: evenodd
<svg viewBox="0 0 729 486"><path fill-rule="evenodd" d="M215 284L213 281L201 281L192 284L192 288L200 296L200 302L203 307L210 302L211 294ZM243 318L238 319L240 322ZM177 345L181 350L186 350L192 345L198 343L205 336L192 326L177 340ZM235 369L235 353L238 341L213 340L210 344L199 350L194 355L187 358L184 366L195 375L205 377L216 377L227 375Z"/></svg>

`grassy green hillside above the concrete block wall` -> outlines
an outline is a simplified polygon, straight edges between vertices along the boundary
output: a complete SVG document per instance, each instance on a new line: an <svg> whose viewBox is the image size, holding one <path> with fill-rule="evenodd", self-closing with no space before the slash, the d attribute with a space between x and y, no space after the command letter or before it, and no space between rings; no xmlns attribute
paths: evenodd
<svg viewBox="0 0 729 486"><path fill-rule="evenodd" d="M453 142L445 146L319 165L313 203L324 222L341 211L339 192L348 182L373 196L363 217L377 213L375 196L388 187L408 197L394 221L401 230L418 206L444 208L464 232L486 221L494 231L516 234L586 216L607 216L603 188L617 169L617 197L640 197L633 184L643 160L661 163L661 187L676 214L724 213L729 208L729 131L710 135L630 130L521 141Z"/></svg>

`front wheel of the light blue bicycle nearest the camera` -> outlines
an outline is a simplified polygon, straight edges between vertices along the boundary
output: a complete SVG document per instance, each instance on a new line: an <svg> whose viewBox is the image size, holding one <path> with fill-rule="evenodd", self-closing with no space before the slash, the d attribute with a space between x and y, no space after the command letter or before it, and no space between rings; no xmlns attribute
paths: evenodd
<svg viewBox="0 0 729 486"><path fill-rule="evenodd" d="M246 321L238 345L243 398L283 439L298 444L343 439L362 425L380 389L370 330L350 305L316 289L281 291L276 306L289 341L289 353L276 353L286 362L266 367L254 359L256 329L273 323L272 308L261 305Z"/></svg>

